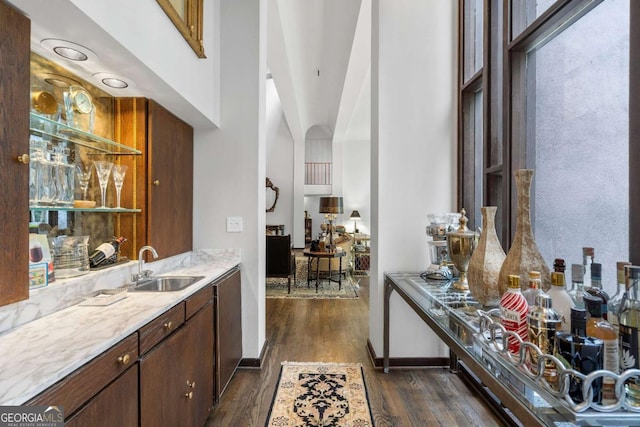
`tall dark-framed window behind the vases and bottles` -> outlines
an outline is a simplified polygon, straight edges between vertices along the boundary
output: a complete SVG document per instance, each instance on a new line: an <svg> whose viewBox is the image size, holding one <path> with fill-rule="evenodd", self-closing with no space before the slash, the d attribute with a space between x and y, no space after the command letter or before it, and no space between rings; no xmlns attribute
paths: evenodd
<svg viewBox="0 0 640 427"><path fill-rule="evenodd" d="M460 0L460 205L474 212L475 226L480 206L498 206L496 229L508 250L517 213L513 171L534 169L532 223L545 260L581 263L582 247L592 246L613 290L616 261L640 263L630 237L640 230L633 215L640 196L630 191L640 161L629 155L639 144L630 135L640 132L630 119L640 114L639 89L629 85L640 66L630 35L640 30L640 6L485 0L485 65L470 76L477 46L466 33L477 20L468 3ZM474 122L478 116L483 124Z"/></svg>

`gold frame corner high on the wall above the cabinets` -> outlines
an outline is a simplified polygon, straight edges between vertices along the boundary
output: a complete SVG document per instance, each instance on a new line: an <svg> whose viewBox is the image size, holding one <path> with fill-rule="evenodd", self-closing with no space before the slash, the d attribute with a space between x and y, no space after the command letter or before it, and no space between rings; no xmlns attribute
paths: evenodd
<svg viewBox="0 0 640 427"><path fill-rule="evenodd" d="M199 58L205 58L202 40L203 0L156 0Z"/></svg>

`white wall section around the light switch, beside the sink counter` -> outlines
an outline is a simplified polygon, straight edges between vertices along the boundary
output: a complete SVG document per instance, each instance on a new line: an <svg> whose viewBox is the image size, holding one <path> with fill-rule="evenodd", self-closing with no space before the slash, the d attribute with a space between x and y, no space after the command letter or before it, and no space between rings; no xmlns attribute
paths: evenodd
<svg viewBox="0 0 640 427"><path fill-rule="evenodd" d="M265 342L266 1L221 0L221 127L196 130L196 248L241 248L243 357ZM226 232L226 217L244 231Z"/></svg>

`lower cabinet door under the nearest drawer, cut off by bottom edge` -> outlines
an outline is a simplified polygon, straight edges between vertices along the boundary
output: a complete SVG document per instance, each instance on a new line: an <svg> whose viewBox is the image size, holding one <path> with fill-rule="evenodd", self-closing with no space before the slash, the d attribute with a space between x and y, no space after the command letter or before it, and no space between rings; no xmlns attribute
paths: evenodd
<svg viewBox="0 0 640 427"><path fill-rule="evenodd" d="M137 425L137 363L65 423L67 427L135 427Z"/></svg>

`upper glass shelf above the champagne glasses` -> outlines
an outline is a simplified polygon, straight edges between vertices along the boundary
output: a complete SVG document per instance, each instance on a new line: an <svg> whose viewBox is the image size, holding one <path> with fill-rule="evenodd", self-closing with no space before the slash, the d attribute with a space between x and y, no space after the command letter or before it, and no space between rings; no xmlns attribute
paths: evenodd
<svg viewBox="0 0 640 427"><path fill-rule="evenodd" d="M68 141L107 154L142 154L140 150L67 126L39 114L29 113L29 115L31 118L29 127L31 133L34 135L48 136L58 141Z"/></svg>

